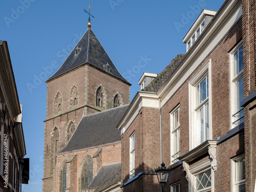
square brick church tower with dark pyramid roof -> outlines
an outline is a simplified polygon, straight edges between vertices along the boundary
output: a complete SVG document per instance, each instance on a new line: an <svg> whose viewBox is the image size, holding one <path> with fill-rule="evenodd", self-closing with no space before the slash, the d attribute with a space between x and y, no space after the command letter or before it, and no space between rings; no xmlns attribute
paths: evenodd
<svg viewBox="0 0 256 192"><path fill-rule="evenodd" d="M47 83L43 191L53 190L56 156L83 115L130 103L130 86L88 24L61 67Z"/></svg>

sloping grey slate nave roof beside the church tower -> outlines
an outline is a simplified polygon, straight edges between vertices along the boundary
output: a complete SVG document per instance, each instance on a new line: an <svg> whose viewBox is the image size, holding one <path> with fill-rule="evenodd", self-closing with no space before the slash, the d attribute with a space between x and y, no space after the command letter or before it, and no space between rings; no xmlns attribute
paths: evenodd
<svg viewBox="0 0 256 192"><path fill-rule="evenodd" d="M129 104L126 104L83 116L66 147L59 153L121 141L120 131L116 126L128 106Z"/></svg>

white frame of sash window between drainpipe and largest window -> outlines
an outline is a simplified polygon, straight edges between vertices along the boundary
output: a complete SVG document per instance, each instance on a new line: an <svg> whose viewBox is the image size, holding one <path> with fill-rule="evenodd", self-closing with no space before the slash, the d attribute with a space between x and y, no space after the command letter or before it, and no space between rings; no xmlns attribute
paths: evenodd
<svg viewBox="0 0 256 192"><path fill-rule="evenodd" d="M175 112L178 110L178 114L179 114L179 125L177 127L174 127L175 125ZM174 134L177 132L177 137L179 135L179 139L177 138L177 140L175 140ZM173 164L175 162L174 157L172 157L173 155L175 155L177 152L175 152L174 146L175 146L175 142L177 142L177 146L179 146L179 150L180 150L180 105L176 106L176 108L174 110L172 110L172 112L170 112L170 164ZM177 156L179 157L179 155Z"/></svg>

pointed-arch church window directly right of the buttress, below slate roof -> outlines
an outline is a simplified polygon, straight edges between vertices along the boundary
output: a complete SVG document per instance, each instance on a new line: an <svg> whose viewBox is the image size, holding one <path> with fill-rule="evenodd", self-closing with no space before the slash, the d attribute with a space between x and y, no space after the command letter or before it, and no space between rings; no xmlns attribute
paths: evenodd
<svg viewBox="0 0 256 192"><path fill-rule="evenodd" d="M93 179L93 159L88 157L82 166L81 189L87 188Z"/></svg>

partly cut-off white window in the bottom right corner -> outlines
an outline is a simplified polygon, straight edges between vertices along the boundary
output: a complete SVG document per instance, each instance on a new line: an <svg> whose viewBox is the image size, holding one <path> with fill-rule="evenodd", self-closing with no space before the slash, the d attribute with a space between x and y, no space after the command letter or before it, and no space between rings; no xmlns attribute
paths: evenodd
<svg viewBox="0 0 256 192"><path fill-rule="evenodd" d="M244 156L232 159L232 191L245 192L245 160Z"/></svg>

